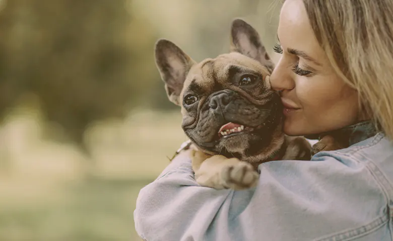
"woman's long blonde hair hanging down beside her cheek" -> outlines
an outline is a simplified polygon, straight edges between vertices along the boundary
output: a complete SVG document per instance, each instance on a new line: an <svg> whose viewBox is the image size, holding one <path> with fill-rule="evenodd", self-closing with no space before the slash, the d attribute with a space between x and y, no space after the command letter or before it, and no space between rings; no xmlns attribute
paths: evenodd
<svg viewBox="0 0 393 241"><path fill-rule="evenodd" d="M363 113L393 140L393 1L303 0L314 34Z"/></svg>

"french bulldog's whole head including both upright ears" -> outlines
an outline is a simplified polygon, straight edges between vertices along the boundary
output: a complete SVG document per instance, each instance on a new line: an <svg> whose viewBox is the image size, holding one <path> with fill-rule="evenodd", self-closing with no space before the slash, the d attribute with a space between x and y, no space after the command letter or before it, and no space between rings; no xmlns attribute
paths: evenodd
<svg viewBox="0 0 393 241"><path fill-rule="evenodd" d="M229 54L196 63L162 39L156 44L156 64L195 145L209 154L259 161L284 140L280 97L266 78L274 64L258 33L244 21L232 22L231 40Z"/></svg>

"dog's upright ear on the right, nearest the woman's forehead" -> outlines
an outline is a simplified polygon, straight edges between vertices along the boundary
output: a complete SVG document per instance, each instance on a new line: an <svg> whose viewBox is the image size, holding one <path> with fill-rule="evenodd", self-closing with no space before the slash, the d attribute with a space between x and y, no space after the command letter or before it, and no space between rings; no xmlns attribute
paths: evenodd
<svg viewBox="0 0 393 241"><path fill-rule="evenodd" d="M274 68L274 63L260 41L258 32L241 19L235 19L232 22L231 52L238 52L255 59L270 70Z"/></svg>

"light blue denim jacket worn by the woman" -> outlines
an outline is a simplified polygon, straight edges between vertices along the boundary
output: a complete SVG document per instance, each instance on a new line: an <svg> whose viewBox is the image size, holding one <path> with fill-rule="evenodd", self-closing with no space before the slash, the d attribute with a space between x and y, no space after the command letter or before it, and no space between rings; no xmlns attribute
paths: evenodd
<svg viewBox="0 0 393 241"><path fill-rule="evenodd" d="M349 148L260 164L243 191L201 187L182 152L140 191L136 230L148 241L393 240L393 145L350 130Z"/></svg>

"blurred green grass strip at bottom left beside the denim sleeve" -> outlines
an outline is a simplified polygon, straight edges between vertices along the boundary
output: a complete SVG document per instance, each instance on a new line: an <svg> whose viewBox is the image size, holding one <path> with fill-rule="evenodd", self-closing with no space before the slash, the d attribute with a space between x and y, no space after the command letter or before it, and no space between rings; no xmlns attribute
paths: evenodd
<svg viewBox="0 0 393 241"><path fill-rule="evenodd" d="M150 181L92 179L59 185L49 200L2 203L0 240L141 240L133 212Z"/></svg>

